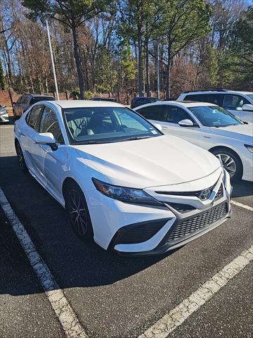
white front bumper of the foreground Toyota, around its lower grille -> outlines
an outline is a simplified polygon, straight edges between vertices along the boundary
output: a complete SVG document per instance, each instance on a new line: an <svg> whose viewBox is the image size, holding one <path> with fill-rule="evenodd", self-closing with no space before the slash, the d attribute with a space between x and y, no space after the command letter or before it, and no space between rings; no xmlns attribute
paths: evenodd
<svg viewBox="0 0 253 338"><path fill-rule="evenodd" d="M220 172L216 176L207 201L195 196L160 195L162 208L125 204L98 191L89 192L95 242L104 249L136 256L161 254L183 246L230 217L232 188L229 175L225 175L226 179ZM153 192L157 193L157 187Z"/></svg>

